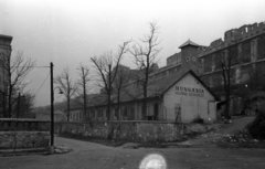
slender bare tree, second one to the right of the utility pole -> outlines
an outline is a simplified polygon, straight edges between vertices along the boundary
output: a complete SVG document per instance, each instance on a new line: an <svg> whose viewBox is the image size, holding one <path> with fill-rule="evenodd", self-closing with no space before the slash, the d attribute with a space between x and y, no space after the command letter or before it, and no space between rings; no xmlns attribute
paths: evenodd
<svg viewBox="0 0 265 169"><path fill-rule="evenodd" d="M78 96L82 97L83 102L82 105L84 107L84 115L86 115L87 112L87 85L88 82L91 81L91 76L89 76L89 68L87 66L84 65L80 65L78 70L78 75L80 75L80 80L77 80L77 93ZM89 115L88 115L89 117Z"/></svg>

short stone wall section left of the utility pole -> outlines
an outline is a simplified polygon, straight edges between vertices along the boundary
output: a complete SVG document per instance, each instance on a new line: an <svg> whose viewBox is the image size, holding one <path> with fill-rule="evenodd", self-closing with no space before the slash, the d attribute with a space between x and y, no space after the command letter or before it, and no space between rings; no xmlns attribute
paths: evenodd
<svg viewBox="0 0 265 169"><path fill-rule="evenodd" d="M46 147L50 122L0 118L0 149Z"/></svg>

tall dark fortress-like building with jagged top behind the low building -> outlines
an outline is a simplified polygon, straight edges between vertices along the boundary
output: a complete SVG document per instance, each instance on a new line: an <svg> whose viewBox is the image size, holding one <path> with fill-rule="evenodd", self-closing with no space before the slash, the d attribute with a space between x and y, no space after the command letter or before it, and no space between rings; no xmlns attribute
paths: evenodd
<svg viewBox="0 0 265 169"><path fill-rule="evenodd" d="M192 70L222 97L224 63L231 68L231 88L235 101L265 89L265 22L229 30L224 33L224 40L214 40L209 46L189 40L180 49L181 52L169 56L167 66L152 76Z"/></svg>

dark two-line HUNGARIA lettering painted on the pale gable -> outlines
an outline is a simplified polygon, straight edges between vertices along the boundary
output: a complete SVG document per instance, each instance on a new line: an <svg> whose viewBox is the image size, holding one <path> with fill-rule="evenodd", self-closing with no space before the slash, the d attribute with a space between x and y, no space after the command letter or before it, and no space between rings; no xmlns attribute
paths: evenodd
<svg viewBox="0 0 265 169"><path fill-rule="evenodd" d="M176 86L174 94L184 95L184 96L204 97L204 89L203 88Z"/></svg>

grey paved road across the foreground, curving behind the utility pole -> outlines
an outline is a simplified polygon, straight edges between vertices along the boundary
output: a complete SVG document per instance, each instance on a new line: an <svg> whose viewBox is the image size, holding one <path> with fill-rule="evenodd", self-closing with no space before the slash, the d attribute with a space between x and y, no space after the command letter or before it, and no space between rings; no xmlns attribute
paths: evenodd
<svg viewBox="0 0 265 169"><path fill-rule="evenodd" d="M51 156L0 157L0 169L137 169L150 152L166 157L170 169L265 168L265 149L165 148L123 149L55 138L74 151Z"/></svg>

